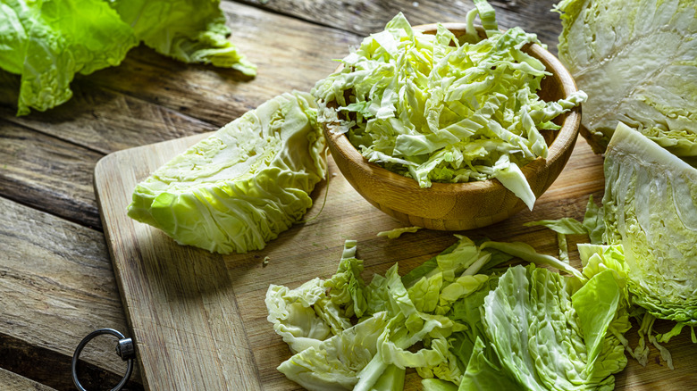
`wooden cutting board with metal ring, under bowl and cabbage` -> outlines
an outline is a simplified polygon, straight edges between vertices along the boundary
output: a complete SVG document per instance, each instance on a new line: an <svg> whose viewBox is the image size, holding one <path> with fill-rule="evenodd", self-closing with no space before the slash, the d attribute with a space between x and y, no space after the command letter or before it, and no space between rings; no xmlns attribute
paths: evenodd
<svg viewBox="0 0 697 391"><path fill-rule="evenodd" d="M315 188L315 205L307 212L307 218L314 219L282 233L261 251L210 254L177 245L161 231L130 220L126 207L133 187L202 137L206 135L109 154L95 170L106 242L130 337L137 346L141 378L149 389L298 389L275 370L290 357L290 350L266 320L264 299L270 284L298 287L308 279L331 276L346 239L358 241L365 279L384 274L394 262L399 262L403 274L456 241L451 232L424 229L397 239L377 237L378 232L401 224L361 198L331 157L328 180ZM566 169L535 204L534 212L520 212L464 234L525 241L541 253L556 254L556 234L525 228L523 223L565 216L581 219L588 196L594 194L600 201L602 188L602 159L579 138ZM578 265L573 251L572 264ZM627 335L633 345L635 334L633 329ZM668 370L652 349L645 368L630 359L617 375L617 388L695 389L697 344L684 333L667 347L676 370ZM406 387L420 388L415 372L407 372Z"/></svg>

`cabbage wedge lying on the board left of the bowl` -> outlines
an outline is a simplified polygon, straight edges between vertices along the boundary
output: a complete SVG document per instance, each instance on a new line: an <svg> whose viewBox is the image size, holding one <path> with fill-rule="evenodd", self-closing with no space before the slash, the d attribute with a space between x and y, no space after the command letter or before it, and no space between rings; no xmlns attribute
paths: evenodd
<svg viewBox="0 0 697 391"><path fill-rule="evenodd" d="M315 107L296 92L245 113L139 183L129 216L211 252L264 248L302 218L324 178Z"/></svg>

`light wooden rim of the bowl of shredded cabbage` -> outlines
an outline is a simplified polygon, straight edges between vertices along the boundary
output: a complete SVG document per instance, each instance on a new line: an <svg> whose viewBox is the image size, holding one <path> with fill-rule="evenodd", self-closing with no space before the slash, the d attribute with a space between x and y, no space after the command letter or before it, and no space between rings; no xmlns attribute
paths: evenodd
<svg viewBox="0 0 697 391"><path fill-rule="evenodd" d="M413 26L412 29L425 33L434 33L439 24L450 31L466 30L466 23L461 22L421 24ZM479 29L480 32L483 31L480 26L477 26L477 29ZM528 44L524 47L527 48L527 51L532 52L532 54L541 59L543 62L547 62L551 65L551 70L550 67L547 67L547 71L553 71L553 73L558 75L563 91L563 97L566 98L578 90L571 73L554 54L551 54L548 50L544 49L538 44ZM340 65L337 70L340 70L342 67L343 65ZM532 162L528 162L520 168L525 175L525 179L528 179L528 181L533 177L533 173L537 172L537 167L540 164L543 164L545 168L549 168L554 162L564 155L564 152L567 151L567 149L573 148L576 137L578 136L579 127L581 125L581 106L576 106L574 109L567 112L566 115L567 116L561 125L561 129L556 130L557 136L554 138L551 145L548 146L547 158L537 157ZM356 164L362 171L368 171L371 173L373 171L380 171L380 175L386 177L386 179L389 181L390 187L408 188L410 191L416 190L434 194L452 194L472 191L491 192L499 189L508 190L500 183L499 180L495 179L458 183L432 182L431 187L420 187L416 179L407 178L396 172L389 171L377 163L368 162L368 160L365 159L365 156L360 154L357 148L348 141L348 137L345 133L333 132L332 129L329 129L325 123L322 125L324 136L331 140L333 146L335 146L341 154L344 154L348 160ZM541 195L535 194L535 196Z"/></svg>

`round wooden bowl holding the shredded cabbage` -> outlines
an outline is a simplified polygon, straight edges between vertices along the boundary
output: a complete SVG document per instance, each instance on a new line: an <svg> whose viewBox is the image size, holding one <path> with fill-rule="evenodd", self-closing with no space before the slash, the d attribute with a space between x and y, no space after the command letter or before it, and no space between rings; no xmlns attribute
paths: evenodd
<svg viewBox="0 0 697 391"><path fill-rule="evenodd" d="M456 37L465 33L464 23L443 23ZM425 33L435 34L436 25L416 26ZM538 95L544 101L556 101L576 91L571 74L558 59L539 45L524 47L526 53L539 59L552 73L542 80ZM537 158L521 168L535 196L542 196L566 165L573 150L581 110L558 116L561 129L545 134L549 146L547 159ZM323 124L324 136L341 173L370 204L407 225L426 229L475 229L507 219L525 208L497 179L467 183L432 183L419 187L415 179L407 178L368 162L344 134L332 133Z"/></svg>

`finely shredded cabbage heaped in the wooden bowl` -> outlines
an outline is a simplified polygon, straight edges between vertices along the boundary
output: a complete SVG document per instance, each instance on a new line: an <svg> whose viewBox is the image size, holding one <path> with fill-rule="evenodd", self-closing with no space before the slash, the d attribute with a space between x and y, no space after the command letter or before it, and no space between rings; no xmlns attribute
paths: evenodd
<svg viewBox="0 0 697 391"><path fill-rule="evenodd" d="M520 167L547 156L540 130L558 129L551 120L585 95L543 102L536 92L550 73L521 50L537 37L500 32L491 6L474 4L460 39L442 25L435 35L412 29L401 13L366 37L340 71L315 84L318 118L348 132L368 161L420 187L495 178L532 209ZM474 33L477 12L486 39Z"/></svg>

